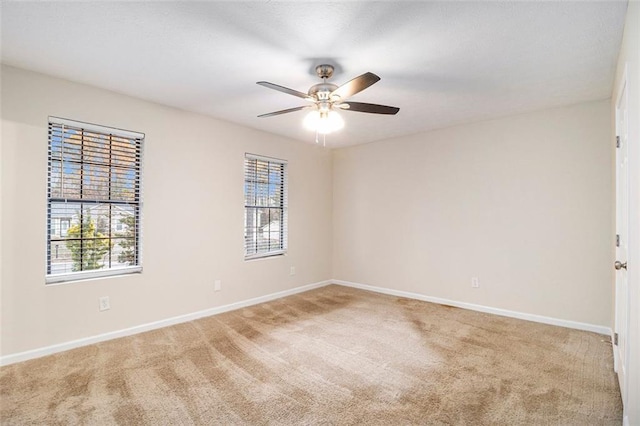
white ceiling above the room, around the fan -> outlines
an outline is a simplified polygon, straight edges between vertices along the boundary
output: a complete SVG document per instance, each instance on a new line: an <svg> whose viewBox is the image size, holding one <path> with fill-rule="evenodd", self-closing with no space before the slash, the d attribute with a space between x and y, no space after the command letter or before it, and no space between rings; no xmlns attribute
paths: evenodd
<svg viewBox="0 0 640 426"><path fill-rule="evenodd" d="M314 68L336 84L371 71L327 136L341 147L611 96L626 1L11 2L2 63L313 143Z"/></svg>

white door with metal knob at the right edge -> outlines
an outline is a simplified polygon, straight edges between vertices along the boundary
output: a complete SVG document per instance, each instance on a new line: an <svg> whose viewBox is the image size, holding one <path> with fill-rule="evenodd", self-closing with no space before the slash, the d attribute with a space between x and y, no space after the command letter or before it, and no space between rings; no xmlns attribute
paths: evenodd
<svg viewBox="0 0 640 426"><path fill-rule="evenodd" d="M614 357L622 402L626 402L629 330L629 287L627 254L629 248L629 170L626 73L616 99L616 314ZM617 339L617 344L615 340Z"/></svg>

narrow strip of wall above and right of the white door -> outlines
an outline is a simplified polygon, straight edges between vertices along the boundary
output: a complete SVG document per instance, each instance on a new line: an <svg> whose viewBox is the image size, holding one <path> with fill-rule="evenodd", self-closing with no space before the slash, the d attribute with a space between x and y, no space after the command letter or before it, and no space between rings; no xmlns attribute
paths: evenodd
<svg viewBox="0 0 640 426"><path fill-rule="evenodd" d="M627 70L629 117L629 334L625 417L628 425L640 425L640 2L630 1L616 81L611 96L611 114Z"/></svg>

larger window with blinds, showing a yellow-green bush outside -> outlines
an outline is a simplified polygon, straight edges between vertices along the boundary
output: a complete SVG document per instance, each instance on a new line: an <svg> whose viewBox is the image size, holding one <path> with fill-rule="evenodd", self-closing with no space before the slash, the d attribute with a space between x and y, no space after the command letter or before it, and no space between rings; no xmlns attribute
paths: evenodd
<svg viewBox="0 0 640 426"><path fill-rule="evenodd" d="M143 140L49 117L47 283L142 270Z"/></svg>

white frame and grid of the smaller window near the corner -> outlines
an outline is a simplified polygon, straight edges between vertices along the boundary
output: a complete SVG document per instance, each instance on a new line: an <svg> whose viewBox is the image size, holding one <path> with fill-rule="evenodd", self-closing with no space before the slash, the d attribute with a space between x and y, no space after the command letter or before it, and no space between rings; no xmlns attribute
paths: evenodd
<svg viewBox="0 0 640 426"><path fill-rule="evenodd" d="M281 196L280 196L280 204L277 206L272 206L272 205L260 205L257 201L253 204L250 204L247 202L247 185L250 184L254 184L257 186L258 182L257 180L255 182L251 182L249 180L249 173L248 173L248 168L249 168L249 162L250 161L256 161L256 162L266 162L267 163L267 169L269 170L269 167L271 164L276 164L279 167L281 167L281 173L280 173L280 190L281 190ZM289 218L288 218L288 198L289 198L289 173L288 173L288 162L287 160L283 160L280 158L274 158L274 157L267 157L264 155L257 155L257 154L251 154L251 153L245 153L244 155L244 168L243 168L243 198L244 198L244 260L245 261L249 261L249 260L256 260L256 259L264 259L264 258L270 258L270 257L276 257L276 256L284 256L287 254L287 250L288 250L288 222L289 222ZM257 163L256 163L257 165ZM257 167L257 166L256 166ZM256 175L257 175L257 170L256 170ZM270 177L268 177L267 180L267 185L270 185ZM254 188L254 194L257 194L257 189ZM257 198L257 196L256 196ZM259 209L274 209L274 210L279 210L280 211L280 225L278 230L276 231L277 234L279 235L279 247L277 247L276 249L271 249L269 248L268 250L263 250L260 251L259 250L259 243L257 242L257 235L258 233L256 232L256 230L260 229L261 226L260 225L255 225L253 226L254 232L256 232L254 235L256 235L254 241L253 241L253 249L251 250L249 247L249 240L248 240L248 236L247 236L247 230L250 228L248 226L248 219L251 216L249 214L249 210L254 210L254 212L256 210ZM255 212L256 215L254 217L257 217L257 212ZM269 222L268 224L271 224L272 222ZM273 234L274 231L271 230L271 228L269 228L269 230L267 231L269 233L269 236L271 236ZM263 231L264 233L264 231Z"/></svg>

